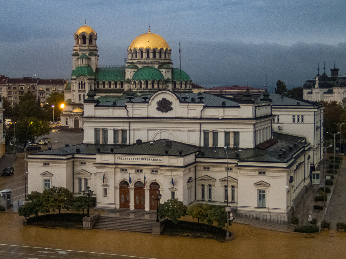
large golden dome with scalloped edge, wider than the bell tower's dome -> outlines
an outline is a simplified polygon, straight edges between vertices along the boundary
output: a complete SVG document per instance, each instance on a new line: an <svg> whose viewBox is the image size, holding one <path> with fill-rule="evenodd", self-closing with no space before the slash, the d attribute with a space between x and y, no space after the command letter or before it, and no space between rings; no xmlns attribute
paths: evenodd
<svg viewBox="0 0 346 259"><path fill-rule="evenodd" d="M157 48L157 49L170 49L170 46L160 35L151 33L150 30L148 33L139 35L136 39L131 42L131 45L128 49L139 49L139 48Z"/></svg>

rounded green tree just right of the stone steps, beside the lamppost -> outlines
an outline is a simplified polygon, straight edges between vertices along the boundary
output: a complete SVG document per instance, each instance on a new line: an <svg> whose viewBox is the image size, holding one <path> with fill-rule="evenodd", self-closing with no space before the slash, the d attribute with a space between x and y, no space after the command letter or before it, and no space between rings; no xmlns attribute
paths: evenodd
<svg viewBox="0 0 346 259"><path fill-rule="evenodd" d="M158 207L160 219L169 218L174 224L178 223L180 217L186 215L186 206L178 199L169 199Z"/></svg>

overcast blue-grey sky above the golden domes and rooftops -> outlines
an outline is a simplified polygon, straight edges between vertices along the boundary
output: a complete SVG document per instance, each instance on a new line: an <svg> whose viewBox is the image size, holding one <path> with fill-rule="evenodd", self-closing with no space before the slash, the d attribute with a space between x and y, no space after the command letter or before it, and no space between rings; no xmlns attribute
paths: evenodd
<svg viewBox="0 0 346 259"><path fill-rule="evenodd" d="M76 30L97 32L99 65L124 65L149 28L172 49L173 67L203 87L302 86L325 62L346 74L344 1L0 0L0 74L69 78ZM248 75L248 79L247 79Z"/></svg>

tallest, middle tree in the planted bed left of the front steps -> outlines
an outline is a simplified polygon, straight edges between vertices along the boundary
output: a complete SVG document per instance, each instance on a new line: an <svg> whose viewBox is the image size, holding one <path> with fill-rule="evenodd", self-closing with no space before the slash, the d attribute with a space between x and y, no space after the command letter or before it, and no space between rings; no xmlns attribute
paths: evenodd
<svg viewBox="0 0 346 259"><path fill-rule="evenodd" d="M73 200L73 193L64 187L55 187L44 190L41 194L42 209L41 212L49 213L62 209L70 210Z"/></svg>

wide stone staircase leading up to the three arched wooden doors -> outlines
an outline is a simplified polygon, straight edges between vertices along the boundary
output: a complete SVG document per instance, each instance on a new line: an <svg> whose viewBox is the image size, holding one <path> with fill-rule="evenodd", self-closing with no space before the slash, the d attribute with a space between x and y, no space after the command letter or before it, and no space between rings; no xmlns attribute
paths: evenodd
<svg viewBox="0 0 346 259"><path fill-rule="evenodd" d="M93 229L123 230L134 232L153 232L153 219L122 218L100 216L95 222Z"/></svg>

